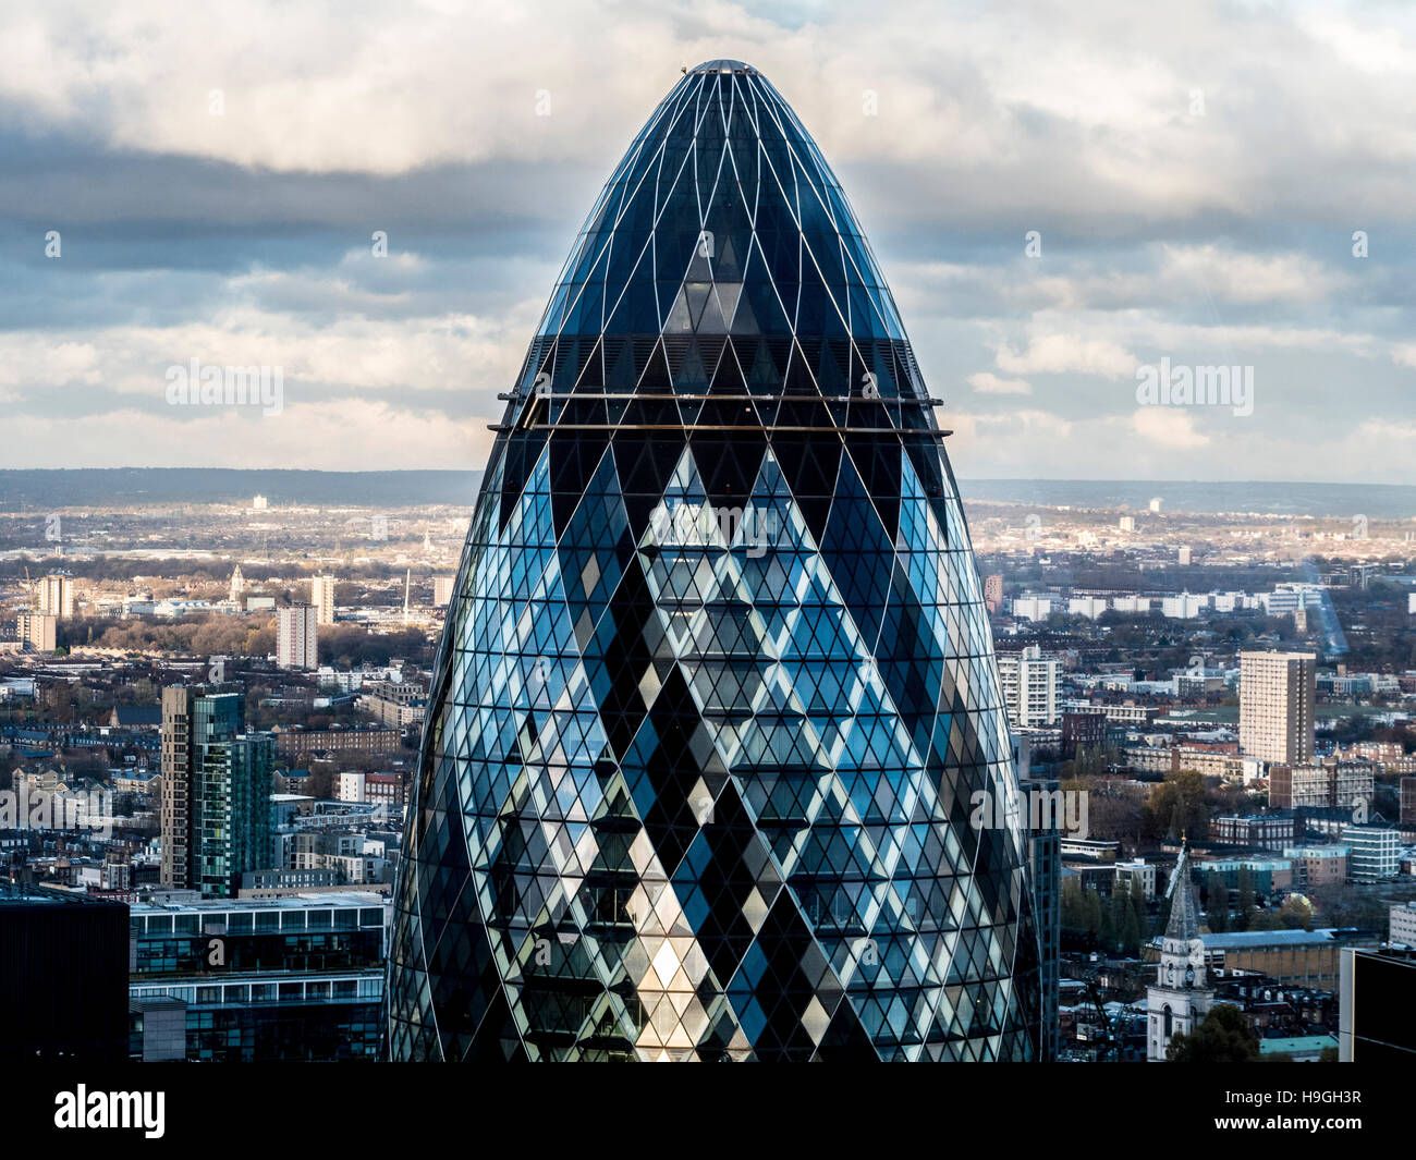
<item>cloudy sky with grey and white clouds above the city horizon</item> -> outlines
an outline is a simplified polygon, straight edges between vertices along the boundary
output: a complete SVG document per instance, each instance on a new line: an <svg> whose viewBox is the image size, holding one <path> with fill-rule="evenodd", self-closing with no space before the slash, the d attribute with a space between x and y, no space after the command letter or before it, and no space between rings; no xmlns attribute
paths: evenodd
<svg viewBox="0 0 1416 1160"><path fill-rule="evenodd" d="M600 183L681 67L732 57L837 170L961 476L1416 483L1408 4L10 0L4 25L3 467L480 467ZM1253 414L1138 406L1163 357L1253 367ZM169 405L193 358L282 367L283 412Z"/></svg>

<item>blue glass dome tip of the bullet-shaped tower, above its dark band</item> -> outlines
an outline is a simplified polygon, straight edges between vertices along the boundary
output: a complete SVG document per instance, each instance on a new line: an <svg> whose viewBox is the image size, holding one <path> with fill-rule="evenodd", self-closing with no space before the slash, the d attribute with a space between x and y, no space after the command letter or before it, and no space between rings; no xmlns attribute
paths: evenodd
<svg viewBox="0 0 1416 1160"><path fill-rule="evenodd" d="M685 282L716 292L695 300ZM841 183L741 61L700 65L654 110L586 218L538 333L675 329L903 337ZM899 389L892 368L879 373L882 394Z"/></svg>

